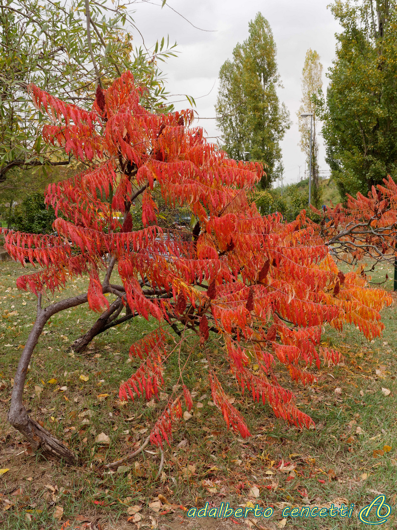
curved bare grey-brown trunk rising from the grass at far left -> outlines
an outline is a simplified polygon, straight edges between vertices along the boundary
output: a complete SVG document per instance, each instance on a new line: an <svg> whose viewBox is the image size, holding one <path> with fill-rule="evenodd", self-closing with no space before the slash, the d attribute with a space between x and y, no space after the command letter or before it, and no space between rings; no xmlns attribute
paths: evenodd
<svg viewBox="0 0 397 530"><path fill-rule="evenodd" d="M29 361L46 322L53 314L69 307L84 304L85 302L87 302L87 295L80 295L75 298L62 300L61 302L57 302L56 304L52 304L51 306L42 309L41 295L38 296L37 318L31 332L29 333L28 340L26 341L16 369L10 411L8 411L8 421L10 421L15 429L22 433L22 435L30 442L33 449L36 451L40 449L46 456L62 458L68 464L77 464L77 456L62 444L60 440L41 427L39 423L29 418L28 412L23 405L23 387L25 384L26 373L28 372Z"/></svg>

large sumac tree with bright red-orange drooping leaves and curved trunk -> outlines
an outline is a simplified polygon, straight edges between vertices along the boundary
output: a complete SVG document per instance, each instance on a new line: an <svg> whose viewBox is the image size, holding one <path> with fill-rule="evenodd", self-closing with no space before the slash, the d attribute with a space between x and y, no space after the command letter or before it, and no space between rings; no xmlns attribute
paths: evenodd
<svg viewBox="0 0 397 530"><path fill-rule="evenodd" d="M64 146L88 169L47 190L47 204L58 216L57 235L5 235L15 260L41 267L17 280L20 289L37 295L38 309L14 377L8 418L35 448L68 462L76 462L75 455L29 418L22 402L33 349L58 311L88 303L101 313L82 338L85 343L136 315L158 321L155 331L131 346L130 356L142 362L121 383L124 400L157 396L178 341L194 335L208 354L214 404L228 427L246 437L248 427L219 381L219 355L218 360L211 356L211 344L216 341L230 366L228 375L252 399L268 403L276 417L308 427L311 418L296 408L277 373L284 370L293 381L312 383L311 367L340 358L320 345L322 325L342 329L344 322L354 322L373 338L382 330L379 311L389 302L383 291L366 289L354 272L341 275L304 211L288 224L278 215L258 213L250 194L263 172L260 165L230 160L207 143L202 130L191 126L192 111L150 113L140 105L143 90L124 73L108 90L97 90L87 112L30 86L35 105L52 120L43 137ZM155 191L168 205L191 212L196 223L190 235L158 226ZM134 230L130 209L138 197L144 228ZM112 281L115 268L120 285ZM42 306L47 291L83 274L89 276L87 292ZM168 346L170 334L177 337L176 347ZM194 355L192 349L191 361ZM182 407L192 407L183 370L174 388L150 429L155 445L170 440Z"/></svg>

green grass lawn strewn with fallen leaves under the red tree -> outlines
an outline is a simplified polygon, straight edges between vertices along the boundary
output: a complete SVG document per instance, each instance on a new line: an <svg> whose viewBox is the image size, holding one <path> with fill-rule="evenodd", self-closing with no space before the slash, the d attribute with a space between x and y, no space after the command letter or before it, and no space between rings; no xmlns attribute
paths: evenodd
<svg viewBox="0 0 397 530"><path fill-rule="evenodd" d="M64 439L83 464L68 467L47 461L32 453L6 422L12 377L21 346L35 318L35 297L15 288L15 280L21 273L19 266L4 262L0 267L0 399L3 404L0 468L10 469L0 476L0 501L3 509L7 508L0 512L2 528L60 528L66 520L75 521L71 528L77 528L82 524L76 520L79 515L87 520L100 520L106 529L122 530L134 527L127 518L128 508L135 505L142 505L139 514L143 524L153 525L152 516L167 528L170 520L179 520L178 515L183 511L175 508L174 515L160 516L148 508L148 503L158 494L170 503L187 508L202 506L207 500L213 506L229 501L232 507L238 508L249 501L249 490L254 485L260 491L259 497L252 499L254 505L272 505L275 509L270 519L261 519L258 524L272 529L277 528L287 504L301 507L310 502L310 506L320 506L342 499L348 505L356 505L350 519L287 518L287 529L316 530L364 527L357 519L359 508L368 505L379 491L394 507L393 495L397 491L395 305L382 313L386 326L382 339L368 342L354 326L346 326L343 333L327 328L322 340L339 348L344 363L336 368L323 366L318 383L311 388L289 383L301 410L315 421L315 430L287 426L274 418L268 407L252 403L249 395L242 395L229 383L228 368L224 365L224 373L219 370L220 380L254 436L242 440L227 431L210 399L204 352L196 349L187 374L187 383L194 389L193 417L175 426L173 445L165 447L163 473L156 481L160 454L151 446L129 462L127 469L111 473L103 469L104 463L138 447L166 406L165 395L161 395L159 403L146 400L123 403L118 398L120 382L138 366L129 361L129 347L155 324L133 319L99 335L86 352L77 355L68 347L89 328L96 315L80 307L52 317L31 360L25 406L33 418ZM392 268L383 268L374 273L373 280L380 281L386 272L390 278L393 276ZM390 290L391 284L392 280L387 280L386 288ZM56 296L77 294L85 286L85 279L74 281L50 301ZM189 347L185 345L181 350L182 363ZM216 347L206 353L210 358L219 357ZM80 376L88 376L88 380ZM167 392L177 378L178 364L173 358L165 373ZM51 379L56 382L50 382ZM279 381L288 385L283 373L279 374ZM336 393L336 388L341 393ZM389 389L390 394L385 396L382 388ZM95 443L101 432L109 436L109 445ZM374 458L373 452L383 450L385 445L391 451ZM285 466L294 467L293 472L285 472ZM57 506L64 509L61 522L53 518ZM163 509L167 511L166 507ZM393 515L382 528L395 527ZM236 527L230 520L224 524ZM192 528L199 526L196 520Z"/></svg>

